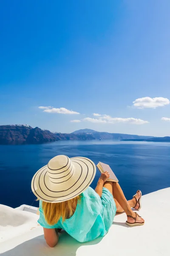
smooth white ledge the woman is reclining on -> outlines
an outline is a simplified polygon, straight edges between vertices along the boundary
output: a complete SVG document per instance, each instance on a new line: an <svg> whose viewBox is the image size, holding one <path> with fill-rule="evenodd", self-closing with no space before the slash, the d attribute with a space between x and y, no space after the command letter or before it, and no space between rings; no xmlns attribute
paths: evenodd
<svg viewBox="0 0 170 256"><path fill-rule="evenodd" d="M0 205L0 256L170 255L170 188L142 196L139 213L145 219L144 226L128 227L126 215L117 215L105 237L79 243L64 232L54 248L45 243L38 215L24 207L29 208Z"/></svg>

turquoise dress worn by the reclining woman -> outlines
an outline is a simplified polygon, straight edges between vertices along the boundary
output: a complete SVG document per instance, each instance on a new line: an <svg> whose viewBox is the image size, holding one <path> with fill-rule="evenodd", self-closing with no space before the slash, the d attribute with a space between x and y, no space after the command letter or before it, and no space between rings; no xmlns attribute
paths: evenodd
<svg viewBox="0 0 170 256"><path fill-rule="evenodd" d="M79 242L87 242L99 236L105 236L113 223L116 214L116 204L113 195L103 188L102 197L88 187L78 201L76 210L71 218L62 222L62 218L51 226L45 221L40 201L40 218L38 223L45 228L61 228Z"/></svg>

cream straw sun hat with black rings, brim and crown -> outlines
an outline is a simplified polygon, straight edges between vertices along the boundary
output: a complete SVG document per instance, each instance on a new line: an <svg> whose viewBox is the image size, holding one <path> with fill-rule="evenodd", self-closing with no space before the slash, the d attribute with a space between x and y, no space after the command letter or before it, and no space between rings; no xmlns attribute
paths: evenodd
<svg viewBox="0 0 170 256"><path fill-rule="evenodd" d="M31 189L40 200L59 203L85 191L95 174L96 166L90 159L58 155L35 173Z"/></svg>

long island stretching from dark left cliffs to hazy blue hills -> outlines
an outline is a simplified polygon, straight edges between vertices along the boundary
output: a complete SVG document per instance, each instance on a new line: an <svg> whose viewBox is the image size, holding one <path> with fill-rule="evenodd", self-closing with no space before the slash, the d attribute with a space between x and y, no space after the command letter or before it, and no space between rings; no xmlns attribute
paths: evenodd
<svg viewBox="0 0 170 256"><path fill-rule="evenodd" d="M48 143L58 140L147 140L153 136L139 136L82 129L72 133L51 132L30 125L0 125L0 145Z"/></svg>

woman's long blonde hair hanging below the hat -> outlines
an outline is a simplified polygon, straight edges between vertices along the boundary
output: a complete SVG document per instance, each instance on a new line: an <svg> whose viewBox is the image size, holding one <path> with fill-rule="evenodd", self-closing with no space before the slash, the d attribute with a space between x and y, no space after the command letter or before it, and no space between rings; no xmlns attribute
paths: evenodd
<svg viewBox="0 0 170 256"><path fill-rule="evenodd" d="M78 195L75 198L61 203L47 203L42 201L42 209L47 223L49 225L54 225L59 221L61 217L62 222L67 218L71 218L80 198L81 195Z"/></svg>

